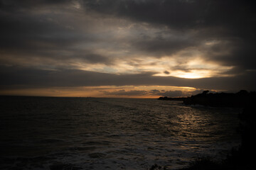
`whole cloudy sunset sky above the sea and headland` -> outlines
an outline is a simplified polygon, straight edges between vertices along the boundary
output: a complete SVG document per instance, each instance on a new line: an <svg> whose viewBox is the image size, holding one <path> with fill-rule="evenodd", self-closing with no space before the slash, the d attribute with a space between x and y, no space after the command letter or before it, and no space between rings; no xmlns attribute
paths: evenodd
<svg viewBox="0 0 256 170"><path fill-rule="evenodd" d="M255 4L0 0L0 95L255 91Z"/></svg>

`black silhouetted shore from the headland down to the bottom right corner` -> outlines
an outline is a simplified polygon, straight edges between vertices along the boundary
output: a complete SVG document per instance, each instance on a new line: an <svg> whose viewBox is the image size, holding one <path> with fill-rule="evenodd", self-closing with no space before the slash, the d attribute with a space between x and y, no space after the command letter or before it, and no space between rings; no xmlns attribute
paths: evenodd
<svg viewBox="0 0 256 170"><path fill-rule="evenodd" d="M256 144L256 93L239 91L236 94L208 94L209 91L203 91L202 94L182 98L186 105L202 105L213 107L233 107L243 108L240 118L241 145L238 149L232 149L230 154L222 162L213 162L210 158L198 158L191 162L191 166L181 170L226 170L226 169L256 169L255 153ZM173 100L176 98L159 98L159 100ZM153 167L153 166L152 166ZM161 166L154 166L153 169L160 169Z"/></svg>

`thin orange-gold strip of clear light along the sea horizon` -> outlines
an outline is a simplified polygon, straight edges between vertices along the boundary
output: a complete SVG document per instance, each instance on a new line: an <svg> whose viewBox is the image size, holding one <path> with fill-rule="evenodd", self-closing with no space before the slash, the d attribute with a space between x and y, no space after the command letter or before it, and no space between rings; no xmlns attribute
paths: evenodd
<svg viewBox="0 0 256 170"><path fill-rule="evenodd" d="M178 96L190 96L196 88L186 86L80 86L52 87L38 89L9 89L2 95L55 96L55 97L97 97L97 98L159 98L176 92ZM178 93L180 92L180 93Z"/></svg>

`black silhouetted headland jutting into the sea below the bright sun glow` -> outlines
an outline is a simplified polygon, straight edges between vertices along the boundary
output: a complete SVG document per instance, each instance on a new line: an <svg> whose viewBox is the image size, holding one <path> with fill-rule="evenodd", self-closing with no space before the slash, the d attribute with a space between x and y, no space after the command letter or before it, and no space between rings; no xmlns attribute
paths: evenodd
<svg viewBox="0 0 256 170"><path fill-rule="evenodd" d="M203 91L202 94L187 98L169 98L160 97L159 100L165 101L183 101L186 105L202 105L213 107L235 107L243 108L256 98L256 92L247 92L241 90L238 93L209 93L209 91Z"/></svg>

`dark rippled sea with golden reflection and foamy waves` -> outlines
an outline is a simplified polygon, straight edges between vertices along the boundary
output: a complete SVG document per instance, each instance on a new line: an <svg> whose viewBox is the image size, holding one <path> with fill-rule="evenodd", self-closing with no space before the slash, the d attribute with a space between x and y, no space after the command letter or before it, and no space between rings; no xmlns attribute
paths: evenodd
<svg viewBox="0 0 256 170"><path fill-rule="evenodd" d="M179 169L240 144L238 108L128 98L0 97L0 169Z"/></svg>

